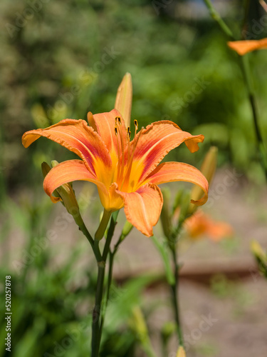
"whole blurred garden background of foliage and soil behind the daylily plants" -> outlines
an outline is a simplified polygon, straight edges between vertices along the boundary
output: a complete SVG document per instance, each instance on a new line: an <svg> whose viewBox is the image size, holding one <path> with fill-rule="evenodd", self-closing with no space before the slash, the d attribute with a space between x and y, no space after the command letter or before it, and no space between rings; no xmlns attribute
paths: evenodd
<svg viewBox="0 0 267 357"><path fill-rule="evenodd" d="M240 38L246 2L214 1ZM246 38L266 37L262 4L251 1L248 9ZM0 288L2 311L4 276L11 275L13 356L87 356L95 289L88 243L42 188L43 161L75 156L46 139L24 149L21 135L66 118L86 119L88 111L110 111L127 71L133 81L132 118L140 126L172 120L205 136L196 154L181 146L167 160L199 168L211 145L219 149L204 210L234 233L219 242L187 236L182 244L188 356L264 356L267 288L249 243L256 238L266 247L266 183L239 57L226 46L203 1L1 0L0 13ZM267 51L248 56L266 138ZM173 193L181 187L169 186ZM90 183L77 183L75 192L93 233L101 211L97 191ZM124 219L120 214L118 232ZM162 236L160 225L155 233ZM175 356L177 339L168 334L169 291L157 249L134 230L117 258L101 356L145 356L131 320L135 306L148 318L157 356ZM209 314L216 322L197 333ZM0 356L9 356L5 336L2 319ZM169 342L162 351L159 336Z"/></svg>

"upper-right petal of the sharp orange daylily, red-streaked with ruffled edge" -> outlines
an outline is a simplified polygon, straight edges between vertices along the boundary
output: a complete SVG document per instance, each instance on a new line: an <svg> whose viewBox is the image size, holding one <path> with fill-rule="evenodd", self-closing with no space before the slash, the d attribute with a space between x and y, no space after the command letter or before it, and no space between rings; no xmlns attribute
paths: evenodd
<svg viewBox="0 0 267 357"><path fill-rule="evenodd" d="M198 143L204 141L204 136L193 136L187 131L182 131L172 121L156 121L137 134L136 139L131 142L132 146L135 146L136 140L138 142L134 152L132 171L135 176L137 172L140 174L139 181L141 182L169 151L185 142L193 153L199 149Z"/></svg>

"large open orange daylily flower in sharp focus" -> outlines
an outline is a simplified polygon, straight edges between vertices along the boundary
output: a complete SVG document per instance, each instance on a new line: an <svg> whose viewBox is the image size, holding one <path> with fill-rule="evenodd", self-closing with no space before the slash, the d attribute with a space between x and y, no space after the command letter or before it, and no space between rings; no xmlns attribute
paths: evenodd
<svg viewBox="0 0 267 357"><path fill-rule="evenodd" d="M88 126L88 123L90 126ZM127 221L145 236L152 236L162 210L162 193L159 183L188 181L202 188L204 196L197 205L207 200L209 183L194 166L164 162L167 153L185 142L191 152L199 149L203 135L192 136L172 121L157 121L137 133L130 140L130 128L117 109L109 113L88 113L84 120L65 119L46 129L36 129L23 134L26 148L40 136L73 151L82 160L68 160L53 167L43 181L43 187L53 202L59 186L84 180L95 183L105 211L124 207Z"/></svg>

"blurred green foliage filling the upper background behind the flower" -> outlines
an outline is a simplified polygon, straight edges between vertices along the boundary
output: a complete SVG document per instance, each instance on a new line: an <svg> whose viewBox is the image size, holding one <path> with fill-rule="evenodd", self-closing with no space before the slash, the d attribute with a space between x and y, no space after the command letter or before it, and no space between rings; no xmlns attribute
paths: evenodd
<svg viewBox="0 0 267 357"><path fill-rule="evenodd" d="M171 119L205 135L199 154L179 150L184 161L197 164L214 144L219 164L231 162L248 174L259 171L238 57L208 16L176 18L178 1L162 6L159 14L150 1L33 4L1 1L1 166L9 186L18 184L18 177L24 183L36 178L33 163L40 159L70 157L45 139L26 151L20 141L23 131L69 117L85 119L88 110L110 111L126 71L133 79L132 117L141 125ZM235 17L240 19L231 14ZM265 32L263 28L261 37ZM249 56L266 134L267 52Z"/></svg>

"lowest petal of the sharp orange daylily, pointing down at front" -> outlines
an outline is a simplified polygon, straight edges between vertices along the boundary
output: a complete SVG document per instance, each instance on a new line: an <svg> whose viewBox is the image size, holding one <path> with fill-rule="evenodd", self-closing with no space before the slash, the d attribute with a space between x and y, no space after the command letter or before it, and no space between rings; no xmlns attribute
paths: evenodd
<svg viewBox="0 0 267 357"><path fill-rule="evenodd" d="M147 183L137 191L126 193L118 191L125 203L125 216L145 236L153 236L153 226L162 211L162 193L157 185Z"/></svg>

